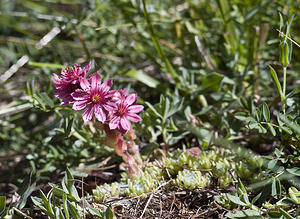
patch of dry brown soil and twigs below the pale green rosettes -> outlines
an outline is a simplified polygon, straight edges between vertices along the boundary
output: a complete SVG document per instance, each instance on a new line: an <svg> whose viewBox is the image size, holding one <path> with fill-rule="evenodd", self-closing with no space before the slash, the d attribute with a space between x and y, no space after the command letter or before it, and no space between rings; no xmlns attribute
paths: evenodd
<svg viewBox="0 0 300 219"><path fill-rule="evenodd" d="M225 218L227 210L214 200L219 194L220 191L213 189L172 187L105 204L112 204L117 218Z"/></svg>

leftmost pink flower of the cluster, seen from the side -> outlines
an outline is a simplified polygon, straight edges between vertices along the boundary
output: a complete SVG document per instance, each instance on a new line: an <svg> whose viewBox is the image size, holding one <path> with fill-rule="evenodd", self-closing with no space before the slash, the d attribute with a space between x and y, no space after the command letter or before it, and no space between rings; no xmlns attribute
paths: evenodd
<svg viewBox="0 0 300 219"><path fill-rule="evenodd" d="M55 97L62 99L62 105L74 103L74 99L71 94L80 87L80 78L85 78L86 74L91 69L92 62L89 62L83 69L79 65L73 65L69 68L61 70L60 76L53 74L54 80L52 80L56 87Z"/></svg>

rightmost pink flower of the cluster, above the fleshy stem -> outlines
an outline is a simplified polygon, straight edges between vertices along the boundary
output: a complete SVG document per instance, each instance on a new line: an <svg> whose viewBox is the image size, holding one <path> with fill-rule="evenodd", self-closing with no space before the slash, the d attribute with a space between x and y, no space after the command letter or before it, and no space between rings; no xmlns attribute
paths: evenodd
<svg viewBox="0 0 300 219"><path fill-rule="evenodd" d="M109 122L110 129L118 129L120 132L126 133L131 129L129 120L132 122L139 122L142 120L137 113L141 112L144 109L144 106L135 105L136 101L136 94L129 94L127 96L124 94L117 104L117 111L114 112L113 118Z"/></svg>

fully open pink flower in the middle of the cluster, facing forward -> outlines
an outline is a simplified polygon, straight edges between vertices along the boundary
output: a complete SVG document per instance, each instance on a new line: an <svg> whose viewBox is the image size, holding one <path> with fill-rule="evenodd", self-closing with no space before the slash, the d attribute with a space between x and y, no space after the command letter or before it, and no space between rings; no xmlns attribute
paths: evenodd
<svg viewBox="0 0 300 219"><path fill-rule="evenodd" d="M81 89L72 93L73 109L84 109L82 118L85 122L90 121L95 114L96 119L104 123L107 119L107 111L117 110L116 104L110 100L113 95L109 92L112 79L101 84L100 75L95 73L88 79L80 78L79 81Z"/></svg>

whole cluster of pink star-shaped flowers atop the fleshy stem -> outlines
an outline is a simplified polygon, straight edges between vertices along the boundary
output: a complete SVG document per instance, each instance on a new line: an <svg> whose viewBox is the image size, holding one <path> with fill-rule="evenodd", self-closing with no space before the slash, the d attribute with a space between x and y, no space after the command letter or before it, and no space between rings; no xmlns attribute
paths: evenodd
<svg viewBox="0 0 300 219"><path fill-rule="evenodd" d="M111 130L117 129L121 133L131 130L130 121L141 121L137 113L144 109L136 104L137 95L126 94L126 88L111 90L112 79L102 83L99 73L87 77L90 69L91 62L84 68L74 65L62 69L60 76L54 74L55 96L62 99L62 105L73 104L74 110L84 110L82 118L85 122L95 117L108 124Z"/></svg>

